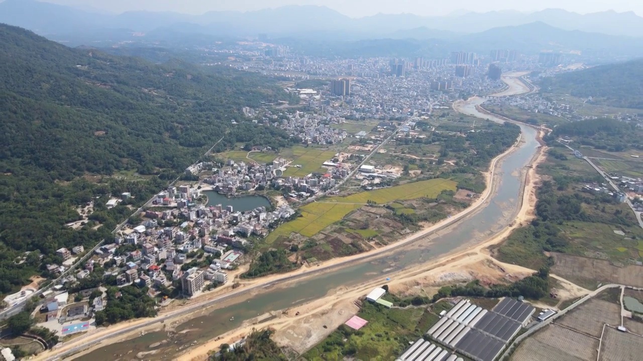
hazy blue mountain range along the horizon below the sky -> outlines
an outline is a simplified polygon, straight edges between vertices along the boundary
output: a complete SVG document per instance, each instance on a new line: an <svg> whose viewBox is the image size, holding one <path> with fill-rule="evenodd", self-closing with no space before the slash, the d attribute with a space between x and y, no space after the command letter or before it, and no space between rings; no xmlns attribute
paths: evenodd
<svg viewBox="0 0 643 361"><path fill-rule="evenodd" d="M306 37L314 33L341 33L352 40L416 36L449 39L454 33L477 33L503 26L544 22L563 30L608 35L643 36L643 17L634 12L597 12L581 15L561 9L533 13L457 12L442 17L408 13L377 14L354 19L325 6L282 6L252 12L207 12L186 15L174 12L89 12L36 0L5 0L0 3L0 22L21 26L41 35L69 36L83 31L118 30L146 32L172 26L175 30L209 35ZM416 30L416 31L412 31ZM417 31L420 30L420 31ZM401 33L400 33L401 32Z"/></svg>

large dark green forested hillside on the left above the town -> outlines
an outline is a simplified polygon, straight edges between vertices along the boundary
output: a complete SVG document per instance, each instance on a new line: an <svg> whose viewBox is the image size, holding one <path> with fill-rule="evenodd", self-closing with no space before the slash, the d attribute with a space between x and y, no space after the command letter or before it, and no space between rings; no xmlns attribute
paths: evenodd
<svg viewBox="0 0 643 361"><path fill-rule="evenodd" d="M222 136L218 150L291 143L278 128L242 117L244 106L287 95L256 74L71 49L4 24L0 64L0 294L34 273L48 276L44 265L62 262L60 247L109 238L131 214L127 206L140 206ZM120 170L150 177L109 177ZM131 200L105 207L125 191ZM87 225L66 227L90 200ZM26 251L33 252L23 258Z"/></svg>

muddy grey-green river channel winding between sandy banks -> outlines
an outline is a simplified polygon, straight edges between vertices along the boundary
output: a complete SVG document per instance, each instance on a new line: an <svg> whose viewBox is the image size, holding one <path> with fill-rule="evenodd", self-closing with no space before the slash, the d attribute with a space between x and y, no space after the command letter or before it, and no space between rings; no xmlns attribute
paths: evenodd
<svg viewBox="0 0 643 361"><path fill-rule="evenodd" d="M479 103L482 103L482 99L472 98L466 102L462 112L476 114L480 118L490 118L477 113L475 105ZM202 344L226 331L238 328L242 322L259 314L290 308L323 297L339 286L356 286L365 281L376 280L378 277L382 279L382 283L386 283L386 277L395 272L435 260L463 245L479 243L502 230L511 224L520 208L521 171L530 163L539 146L536 141L536 130L524 125L520 127L521 143L516 150L504 157L502 164L498 166L496 171L498 183L494 185L496 191L489 197L489 202L458 223L457 227L449 228L448 232L439 231L431 236L431 242L426 247L419 248L417 244L411 243L376 260L311 276L291 283L285 288L280 286L270 290L268 287L265 292L255 296L239 296L237 303L232 306L212 312L204 310L204 315L201 317L186 319L186 322L177 326L176 331L179 335L174 337L167 346L157 348L161 349L158 353L146 355L145 360L172 360L176 357L176 349L180 346L189 345L192 342ZM233 321L230 321L231 317L234 317ZM181 331L186 332L180 333ZM102 346L76 359L134 360L136 353L151 351L150 344L166 339L168 335L165 331L147 333L125 342ZM185 351L185 348L182 351Z"/></svg>

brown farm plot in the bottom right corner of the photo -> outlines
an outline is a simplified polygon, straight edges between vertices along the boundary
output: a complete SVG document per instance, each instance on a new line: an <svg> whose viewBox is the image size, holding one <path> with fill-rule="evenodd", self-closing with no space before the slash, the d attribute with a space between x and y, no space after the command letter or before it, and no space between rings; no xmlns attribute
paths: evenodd
<svg viewBox="0 0 643 361"><path fill-rule="evenodd" d="M643 337L611 327L605 328L599 361L640 360L642 354Z"/></svg>

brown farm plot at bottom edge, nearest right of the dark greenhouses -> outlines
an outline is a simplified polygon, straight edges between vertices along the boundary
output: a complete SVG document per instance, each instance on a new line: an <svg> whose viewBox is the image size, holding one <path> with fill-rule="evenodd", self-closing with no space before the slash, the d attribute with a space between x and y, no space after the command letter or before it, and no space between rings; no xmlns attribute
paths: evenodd
<svg viewBox="0 0 643 361"><path fill-rule="evenodd" d="M599 347L599 340L556 324L547 326L544 331L538 332L534 339L550 346L551 350L556 352L550 355L554 357L540 358L539 360L559 360L557 355L574 357L569 358L570 360L595 360L596 349Z"/></svg>

